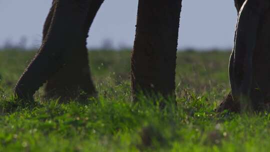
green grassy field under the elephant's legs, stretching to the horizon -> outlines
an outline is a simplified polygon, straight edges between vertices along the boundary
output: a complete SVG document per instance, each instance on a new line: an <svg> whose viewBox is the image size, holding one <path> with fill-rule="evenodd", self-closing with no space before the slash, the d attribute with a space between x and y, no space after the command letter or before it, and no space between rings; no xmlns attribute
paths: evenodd
<svg viewBox="0 0 270 152"><path fill-rule="evenodd" d="M177 53L176 106L130 102L130 51L90 51L89 103L12 100L34 51L0 50L0 151L268 151L270 116L215 113L229 91L228 51Z"/></svg>

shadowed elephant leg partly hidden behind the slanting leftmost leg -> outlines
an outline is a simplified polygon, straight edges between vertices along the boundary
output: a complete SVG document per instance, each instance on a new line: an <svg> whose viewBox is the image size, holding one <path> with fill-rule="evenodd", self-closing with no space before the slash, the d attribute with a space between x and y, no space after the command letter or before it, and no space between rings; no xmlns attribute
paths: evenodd
<svg viewBox="0 0 270 152"><path fill-rule="evenodd" d="M89 27L95 17L103 0L92 0L89 4L87 20L84 26L85 41L88 35ZM47 20L51 19L48 14ZM46 34L46 23L44 24L44 32ZM96 96L96 90L91 79L87 48L83 45L77 46L72 52L72 58L66 61L57 73L48 79L45 85L45 96L47 98L58 98L60 100L66 99L86 99L88 96ZM83 91L84 93L81 93Z"/></svg>

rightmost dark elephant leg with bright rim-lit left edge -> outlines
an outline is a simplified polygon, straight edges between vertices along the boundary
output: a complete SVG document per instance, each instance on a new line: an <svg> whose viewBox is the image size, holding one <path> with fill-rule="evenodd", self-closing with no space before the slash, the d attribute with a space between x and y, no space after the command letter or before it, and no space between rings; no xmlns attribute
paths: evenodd
<svg viewBox="0 0 270 152"><path fill-rule="evenodd" d="M239 13L229 61L231 94L241 108L258 109L270 93L270 3L242 2L235 0Z"/></svg>

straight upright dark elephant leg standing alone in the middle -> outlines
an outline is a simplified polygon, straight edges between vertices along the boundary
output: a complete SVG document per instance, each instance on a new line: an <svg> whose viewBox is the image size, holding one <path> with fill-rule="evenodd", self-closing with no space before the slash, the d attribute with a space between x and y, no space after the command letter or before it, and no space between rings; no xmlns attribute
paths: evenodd
<svg viewBox="0 0 270 152"><path fill-rule="evenodd" d="M181 0L139 0L131 57L132 99L175 98L175 66Z"/></svg>

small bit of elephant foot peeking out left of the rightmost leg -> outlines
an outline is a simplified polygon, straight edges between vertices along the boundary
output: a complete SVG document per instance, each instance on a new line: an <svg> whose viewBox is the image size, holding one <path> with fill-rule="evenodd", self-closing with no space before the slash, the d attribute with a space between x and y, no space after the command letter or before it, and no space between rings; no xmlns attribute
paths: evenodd
<svg viewBox="0 0 270 152"><path fill-rule="evenodd" d="M228 110L230 112L240 112L240 103L232 99L231 93L229 93L219 106L215 109L216 112L222 112Z"/></svg>

